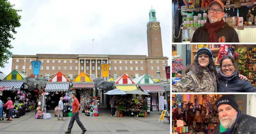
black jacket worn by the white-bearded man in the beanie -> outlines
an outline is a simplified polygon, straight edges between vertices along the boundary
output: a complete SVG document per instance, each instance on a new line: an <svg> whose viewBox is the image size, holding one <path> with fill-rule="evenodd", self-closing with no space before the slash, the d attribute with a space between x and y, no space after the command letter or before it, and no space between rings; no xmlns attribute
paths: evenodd
<svg viewBox="0 0 256 134"><path fill-rule="evenodd" d="M216 125L214 134L220 134L220 122ZM256 118L240 111L240 117L231 134L256 134Z"/></svg>

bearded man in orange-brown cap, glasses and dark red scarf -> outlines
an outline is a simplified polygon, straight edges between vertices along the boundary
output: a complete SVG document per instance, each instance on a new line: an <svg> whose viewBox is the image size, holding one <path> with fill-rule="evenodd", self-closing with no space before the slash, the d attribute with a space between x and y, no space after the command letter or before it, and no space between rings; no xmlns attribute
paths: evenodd
<svg viewBox="0 0 256 134"><path fill-rule="evenodd" d="M209 19L196 29L191 42L239 42L236 30L223 21L224 14L224 4L220 0L212 1Z"/></svg>

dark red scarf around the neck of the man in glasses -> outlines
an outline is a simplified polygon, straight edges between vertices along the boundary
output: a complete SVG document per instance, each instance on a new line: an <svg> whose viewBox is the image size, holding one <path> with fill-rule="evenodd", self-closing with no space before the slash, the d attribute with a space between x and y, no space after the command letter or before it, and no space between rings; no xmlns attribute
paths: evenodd
<svg viewBox="0 0 256 134"><path fill-rule="evenodd" d="M210 23L209 19L207 19L204 24L204 30L207 30L208 32L208 42L218 42L216 31L218 31L223 25L223 19L214 23Z"/></svg>

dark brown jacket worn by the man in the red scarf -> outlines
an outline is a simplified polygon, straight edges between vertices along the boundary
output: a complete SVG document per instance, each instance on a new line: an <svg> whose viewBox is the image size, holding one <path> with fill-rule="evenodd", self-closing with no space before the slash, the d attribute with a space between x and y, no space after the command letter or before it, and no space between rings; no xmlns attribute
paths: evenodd
<svg viewBox="0 0 256 134"><path fill-rule="evenodd" d="M229 26L228 23L224 23L224 25L216 32L218 42L219 38L223 36L225 38L225 42L239 42L238 35L236 30ZM204 30L204 27L198 27L193 34L191 42L208 42L208 32Z"/></svg>

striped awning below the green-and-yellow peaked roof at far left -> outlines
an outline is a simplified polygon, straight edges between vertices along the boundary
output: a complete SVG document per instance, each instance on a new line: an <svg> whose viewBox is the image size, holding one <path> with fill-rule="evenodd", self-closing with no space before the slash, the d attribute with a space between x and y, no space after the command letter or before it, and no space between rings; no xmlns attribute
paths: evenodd
<svg viewBox="0 0 256 134"><path fill-rule="evenodd" d="M24 82L0 82L0 91L18 90Z"/></svg>

